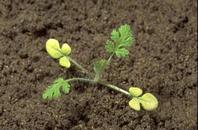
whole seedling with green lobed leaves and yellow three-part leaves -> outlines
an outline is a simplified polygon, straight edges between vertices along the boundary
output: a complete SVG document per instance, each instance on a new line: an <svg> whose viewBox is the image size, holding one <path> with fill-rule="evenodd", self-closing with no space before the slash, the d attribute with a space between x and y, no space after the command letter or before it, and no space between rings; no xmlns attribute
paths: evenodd
<svg viewBox="0 0 198 130"><path fill-rule="evenodd" d="M46 42L46 50L48 54L59 60L59 64L62 67L70 68L71 63L76 65L83 73L87 74L88 78L74 77L69 79L58 78L52 85L44 91L42 97L46 100L56 99L61 96L61 93L69 93L70 83L74 81L90 82L94 84L100 84L108 87L117 92L123 93L130 98L129 106L140 111L141 106L148 111L154 110L158 106L157 98L151 93L143 94L142 89L138 87L129 87L126 91L116 85L112 85L101 79L107 66L110 64L113 57L125 58L128 56L129 51L127 50L134 43L134 36L129 25L125 24L120 26L118 29L113 29L111 32L111 38L107 40L105 49L109 53L109 58L97 60L94 63L94 73L89 72L87 69L78 64L73 58L71 58L71 48L67 43L62 44L60 47L59 42L56 39L49 39Z"/></svg>

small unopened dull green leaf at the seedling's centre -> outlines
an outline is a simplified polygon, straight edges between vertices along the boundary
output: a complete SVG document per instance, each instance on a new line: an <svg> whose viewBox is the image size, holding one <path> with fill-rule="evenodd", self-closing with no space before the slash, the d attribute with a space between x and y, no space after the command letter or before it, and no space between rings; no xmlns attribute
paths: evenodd
<svg viewBox="0 0 198 130"><path fill-rule="evenodd" d="M98 80L107 65L107 60L101 59L94 64L94 71L96 73L95 80Z"/></svg>

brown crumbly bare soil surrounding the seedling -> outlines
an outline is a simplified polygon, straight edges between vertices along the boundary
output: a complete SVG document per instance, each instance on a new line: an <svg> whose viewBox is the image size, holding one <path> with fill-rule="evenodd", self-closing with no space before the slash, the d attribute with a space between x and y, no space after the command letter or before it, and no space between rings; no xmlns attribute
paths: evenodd
<svg viewBox="0 0 198 130"><path fill-rule="evenodd" d="M107 58L113 28L128 23L135 44L127 59L113 58L104 79L139 86L159 99L136 112L129 99L103 86L73 83L70 94L43 101L57 77L82 76L61 68L45 42L68 42L72 57L92 71ZM196 130L197 3L194 0L1 0L1 130Z"/></svg>

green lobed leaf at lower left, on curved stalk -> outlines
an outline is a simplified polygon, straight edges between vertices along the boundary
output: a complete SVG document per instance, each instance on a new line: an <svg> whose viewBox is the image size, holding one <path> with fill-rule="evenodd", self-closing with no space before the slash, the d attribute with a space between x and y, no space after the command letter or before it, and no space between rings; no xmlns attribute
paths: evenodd
<svg viewBox="0 0 198 130"><path fill-rule="evenodd" d="M44 91L42 98L46 100L52 100L60 97L61 88L62 92L67 94L69 93L70 85L63 78L58 78Z"/></svg>

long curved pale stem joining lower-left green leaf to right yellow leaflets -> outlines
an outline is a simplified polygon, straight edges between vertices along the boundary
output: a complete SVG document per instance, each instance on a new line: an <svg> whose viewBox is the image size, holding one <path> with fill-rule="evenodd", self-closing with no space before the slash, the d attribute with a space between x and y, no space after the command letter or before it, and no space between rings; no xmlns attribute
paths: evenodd
<svg viewBox="0 0 198 130"><path fill-rule="evenodd" d="M115 85L109 84L109 83L104 82L104 81L101 81L101 80L95 81L95 80L86 79L86 78L71 78L71 79L67 79L66 81L67 81L67 82L72 82L72 81L83 81L83 82L89 82L89 83L94 83L94 84L101 84L101 85L103 85L103 86L105 86L105 87L108 87L108 88L110 88L110 89L112 89L112 90L115 90L115 91L117 91L117 92L121 92L121 93L123 93L124 95L126 95L127 97L131 97L130 93L127 92L126 90L121 89L121 88L119 88L119 87L117 87L117 86L115 86Z"/></svg>

